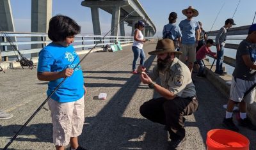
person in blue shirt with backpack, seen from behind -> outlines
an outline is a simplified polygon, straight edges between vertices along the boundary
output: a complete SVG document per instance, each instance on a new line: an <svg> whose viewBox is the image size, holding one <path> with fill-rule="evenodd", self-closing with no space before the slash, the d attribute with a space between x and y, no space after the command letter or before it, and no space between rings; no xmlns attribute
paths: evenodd
<svg viewBox="0 0 256 150"><path fill-rule="evenodd" d="M180 27L175 24L177 20L177 13L171 12L169 15L169 24L164 25L163 38L170 38L174 41L175 48L181 44L181 31ZM179 43L178 43L179 42Z"/></svg>

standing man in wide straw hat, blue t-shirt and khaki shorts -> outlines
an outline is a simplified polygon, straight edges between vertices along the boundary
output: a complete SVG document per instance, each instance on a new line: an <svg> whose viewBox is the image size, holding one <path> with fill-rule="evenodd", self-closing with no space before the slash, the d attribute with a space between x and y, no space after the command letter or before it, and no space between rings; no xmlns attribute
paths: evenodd
<svg viewBox="0 0 256 150"><path fill-rule="evenodd" d="M183 63L188 61L188 68L190 72L193 70L194 62L196 61L196 46L199 40L200 27L193 17L198 16L198 11L189 6L187 9L182 10L183 15L186 15L187 19L182 20L179 24L182 32L181 47L179 59Z"/></svg>

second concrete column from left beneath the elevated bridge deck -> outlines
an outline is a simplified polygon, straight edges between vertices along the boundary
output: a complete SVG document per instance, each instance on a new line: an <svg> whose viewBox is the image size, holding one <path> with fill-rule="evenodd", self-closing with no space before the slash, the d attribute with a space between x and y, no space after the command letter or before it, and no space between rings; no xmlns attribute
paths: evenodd
<svg viewBox="0 0 256 150"><path fill-rule="evenodd" d="M113 6L111 29L113 29L120 20L120 6ZM116 26L111 33L111 36L118 36L119 26Z"/></svg>

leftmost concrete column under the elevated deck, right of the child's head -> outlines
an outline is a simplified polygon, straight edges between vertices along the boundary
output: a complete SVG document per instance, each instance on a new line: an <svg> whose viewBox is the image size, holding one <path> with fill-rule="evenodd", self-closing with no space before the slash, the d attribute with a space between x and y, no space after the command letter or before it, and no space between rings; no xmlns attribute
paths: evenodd
<svg viewBox="0 0 256 150"><path fill-rule="evenodd" d="M91 7L93 34L101 35L99 8Z"/></svg>

